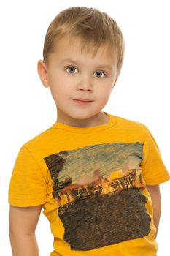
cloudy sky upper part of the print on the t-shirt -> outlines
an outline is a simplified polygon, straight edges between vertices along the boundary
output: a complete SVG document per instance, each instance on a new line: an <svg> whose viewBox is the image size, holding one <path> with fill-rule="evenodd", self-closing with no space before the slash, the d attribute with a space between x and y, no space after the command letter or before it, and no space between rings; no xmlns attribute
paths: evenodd
<svg viewBox="0 0 170 256"><path fill-rule="evenodd" d="M63 194L63 202L72 202L74 197L72 193L67 195L68 192L93 186L102 187L102 182L111 182L117 173L117 178L120 178L131 170L139 172L143 158L142 147L143 143L104 143L45 157L53 181L53 197L57 198L59 205Z"/></svg>

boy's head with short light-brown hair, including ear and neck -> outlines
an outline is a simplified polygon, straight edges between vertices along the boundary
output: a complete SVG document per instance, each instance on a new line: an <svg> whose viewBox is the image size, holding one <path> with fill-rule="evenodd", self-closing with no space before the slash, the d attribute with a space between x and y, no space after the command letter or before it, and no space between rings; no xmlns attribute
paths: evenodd
<svg viewBox="0 0 170 256"><path fill-rule="evenodd" d="M74 125L94 116L106 120L101 109L120 74L124 48L122 32L104 12L71 7L55 17L47 29L38 72L44 86L50 86L59 122Z"/></svg>

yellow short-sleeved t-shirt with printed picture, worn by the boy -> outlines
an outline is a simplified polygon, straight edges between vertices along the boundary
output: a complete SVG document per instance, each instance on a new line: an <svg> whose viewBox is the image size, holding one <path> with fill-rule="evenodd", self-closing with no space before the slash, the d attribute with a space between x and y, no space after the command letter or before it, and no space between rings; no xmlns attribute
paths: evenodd
<svg viewBox="0 0 170 256"><path fill-rule="evenodd" d="M146 185L169 173L144 124L106 114L109 122L96 127L55 122L18 153L9 203L43 205L51 256L156 255Z"/></svg>

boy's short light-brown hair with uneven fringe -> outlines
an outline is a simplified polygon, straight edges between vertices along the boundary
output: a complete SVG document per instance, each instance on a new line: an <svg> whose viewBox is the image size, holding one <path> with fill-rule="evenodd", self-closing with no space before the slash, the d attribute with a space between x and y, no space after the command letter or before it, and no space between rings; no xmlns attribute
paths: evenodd
<svg viewBox="0 0 170 256"><path fill-rule="evenodd" d="M55 42L62 37L78 37L81 50L92 50L96 55L101 45L108 44L110 54L117 51L117 69L123 64L125 43L116 21L107 13L88 7L70 7L58 13L45 35L43 58L53 53Z"/></svg>

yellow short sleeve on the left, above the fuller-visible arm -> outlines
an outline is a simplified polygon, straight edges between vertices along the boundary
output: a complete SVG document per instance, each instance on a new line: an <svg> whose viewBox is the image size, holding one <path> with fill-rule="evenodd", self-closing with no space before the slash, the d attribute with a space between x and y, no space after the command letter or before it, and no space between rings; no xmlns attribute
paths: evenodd
<svg viewBox="0 0 170 256"><path fill-rule="evenodd" d="M30 151L22 146L9 184L9 203L18 207L44 204L46 191L47 182L41 168Z"/></svg>

